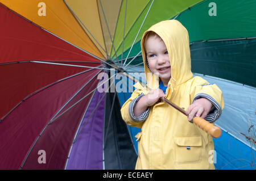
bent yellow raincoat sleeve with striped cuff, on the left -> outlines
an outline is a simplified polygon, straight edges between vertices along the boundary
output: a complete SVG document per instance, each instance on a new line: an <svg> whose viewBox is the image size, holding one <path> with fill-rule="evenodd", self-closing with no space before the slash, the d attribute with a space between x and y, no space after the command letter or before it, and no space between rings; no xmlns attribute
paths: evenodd
<svg viewBox="0 0 256 181"><path fill-rule="evenodd" d="M143 96L144 94L139 90L135 90L131 97L123 104L121 108L121 115L123 120L126 124L130 125L131 127L141 128L143 125L144 120L147 119L148 113L150 108L148 107L146 111L142 113L141 116L135 117L133 115L133 108L137 101Z"/></svg>

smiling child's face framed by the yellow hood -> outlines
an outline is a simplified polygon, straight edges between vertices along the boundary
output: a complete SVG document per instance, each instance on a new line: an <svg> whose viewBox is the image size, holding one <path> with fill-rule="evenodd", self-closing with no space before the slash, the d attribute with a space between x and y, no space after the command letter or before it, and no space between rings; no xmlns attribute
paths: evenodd
<svg viewBox="0 0 256 181"><path fill-rule="evenodd" d="M145 48L150 70L159 73L164 86L167 86L171 78L171 64L166 45L159 36L149 36Z"/></svg>

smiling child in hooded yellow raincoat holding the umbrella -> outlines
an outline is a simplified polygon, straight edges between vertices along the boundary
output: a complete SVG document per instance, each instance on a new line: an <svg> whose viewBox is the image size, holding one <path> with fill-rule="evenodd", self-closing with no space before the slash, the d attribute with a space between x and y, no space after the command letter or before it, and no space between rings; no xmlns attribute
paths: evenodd
<svg viewBox="0 0 256 181"><path fill-rule="evenodd" d="M187 30L177 20L160 22L144 32L141 48L152 90L135 84L121 108L123 120L142 129L136 136L135 169L214 169L212 137L187 119L198 116L213 123L224 100L216 85L193 77ZM189 116L160 102L162 96L186 108Z"/></svg>

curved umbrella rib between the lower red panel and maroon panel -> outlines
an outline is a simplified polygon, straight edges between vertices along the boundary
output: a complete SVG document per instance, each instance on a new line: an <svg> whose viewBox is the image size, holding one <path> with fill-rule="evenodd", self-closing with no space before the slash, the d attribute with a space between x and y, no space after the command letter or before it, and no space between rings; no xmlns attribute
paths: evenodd
<svg viewBox="0 0 256 181"><path fill-rule="evenodd" d="M81 71L80 73L71 75L71 76L69 76L69 77L65 77L65 78L63 78L63 79L60 79L60 80L58 80L58 81L56 81L56 82L53 82L53 83L50 83L49 85L44 86L44 87L42 87L41 89L38 89L38 90L32 92L31 94L27 95L26 98L24 98L22 101L20 101L20 102L19 102L13 109L11 109L5 116L3 116L2 119L0 120L0 122L1 122L3 119L5 119L5 117L8 116L11 112L13 112L16 107L18 107L22 102L24 102L25 100L27 100L28 98L30 98L32 95L35 95L36 93L38 93L38 92L40 92L40 91L42 91L42 90L44 90L44 89L47 89L47 87L50 87L50 86L52 86L52 85L55 85L55 84L58 83L58 82L61 82L61 81L64 81L64 80L66 80L66 79L75 77L76 75L80 75L80 74L85 73L85 72L90 71L90 70L93 70L93 69L88 69L88 70L85 70L85 71Z"/></svg>

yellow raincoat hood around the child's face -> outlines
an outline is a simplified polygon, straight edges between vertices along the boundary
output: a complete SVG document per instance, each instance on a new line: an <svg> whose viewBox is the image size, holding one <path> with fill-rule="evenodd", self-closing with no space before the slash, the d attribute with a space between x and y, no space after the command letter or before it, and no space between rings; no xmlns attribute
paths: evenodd
<svg viewBox="0 0 256 181"><path fill-rule="evenodd" d="M150 31L159 35L168 50L171 65L171 79L168 82L168 86L173 91L177 85L187 82L188 79L193 77L191 72L188 31L179 21L166 20L155 24L144 32L141 40L144 72L146 74L147 85L152 89L159 86L159 79L158 76L151 73L146 65L146 49L144 43L145 37Z"/></svg>

